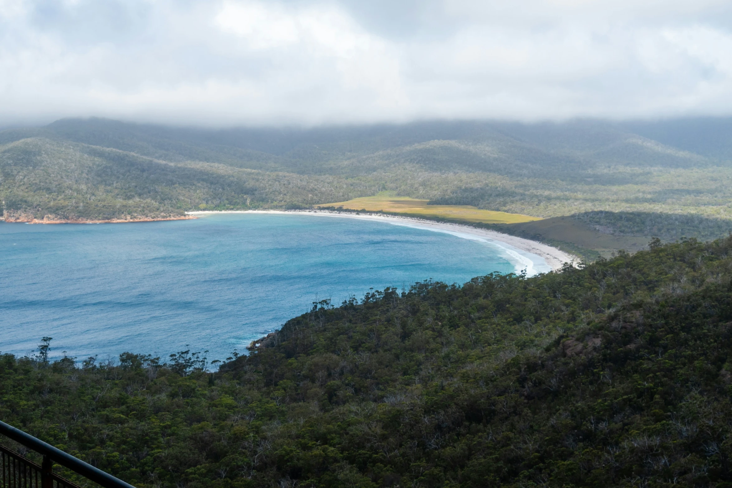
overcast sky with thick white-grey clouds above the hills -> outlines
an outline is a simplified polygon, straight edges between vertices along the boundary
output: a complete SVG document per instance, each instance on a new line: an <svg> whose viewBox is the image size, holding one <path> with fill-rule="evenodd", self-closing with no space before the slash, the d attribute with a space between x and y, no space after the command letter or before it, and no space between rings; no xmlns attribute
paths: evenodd
<svg viewBox="0 0 732 488"><path fill-rule="evenodd" d="M0 0L0 124L732 115L730 0Z"/></svg>

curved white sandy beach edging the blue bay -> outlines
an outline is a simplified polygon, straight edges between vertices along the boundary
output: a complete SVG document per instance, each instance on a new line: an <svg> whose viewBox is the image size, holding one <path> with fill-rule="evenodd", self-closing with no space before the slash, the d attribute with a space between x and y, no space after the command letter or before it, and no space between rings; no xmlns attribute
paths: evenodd
<svg viewBox="0 0 732 488"><path fill-rule="evenodd" d="M433 220L420 219L418 217L408 217L401 215L384 215L378 213L364 212L362 214L351 214L348 212L337 212L329 210L222 210L222 211L189 211L187 215L204 215L204 214L297 214L297 215L320 215L329 217L342 217L348 219L365 219L365 220L379 220L381 222L388 222L396 225L407 225L408 227L423 228L425 230L434 230L437 232L446 232L463 237L463 239L476 239L480 241L500 242L506 246L500 246L504 248L507 253L511 256L511 260L518 260L523 265L527 265L530 269L532 264L527 263L530 258L525 256L524 253L529 255L536 255L542 258L546 265L552 270L557 271L564 266L565 263L575 265L579 262L579 258L570 255L567 252L561 251L556 247L551 247L548 244L543 244L537 241L531 241L529 239L523 239L521 237L511 236L496 232L495 230L479 229L471 227L470 225L453 224L448 222L434 222ZM518 252L511 252L512 249L518 250ZM527 274L532 274L528 273Z"/></svg>

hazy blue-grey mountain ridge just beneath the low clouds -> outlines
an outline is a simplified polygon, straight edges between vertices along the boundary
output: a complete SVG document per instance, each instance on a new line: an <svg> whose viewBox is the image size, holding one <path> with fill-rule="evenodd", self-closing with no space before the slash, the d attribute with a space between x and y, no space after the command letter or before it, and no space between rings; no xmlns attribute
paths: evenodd
<svg viewBox="0 0 732 488"><path fill-rule="evenodd" d="M358 157L373 157L384 151L419 151L425 143L460 142L470 148L474 159L460 159L455 169L477 169L482 160L511 157L531 164L534 160L550 166L617 164L632 162L639 166L689 167L729 162L732 143L717 144L699 151L698 144L679 138L697 149L674 146L671 127L640 124L612 124L602 121L573 121L564 124L516 124L505 122L414 122L402 125L300 128L195 129L132 124L108 119L61 119L46 127L10 129L0 132L0 143L28 137L101 146L142 156L175 161L202 161L233 164L250 169L295 170L318 173L336 170L334 162ZM720 141L732 140L732 122L720 121L725 134ZM664 142L639 132L664 135ZM678 131L678 129L676 129ZM709 140L709 135L705 135ZM488 150L486 150L488 149ZM493 151L490 151L493 149ZM703 149L703 148L702 148ZM439 159L415 155L426 168L444 170ZM328 164L330 163L330 164ZM496 168L501 170L500 165ZM343 168L340 168L343 170ZM507 170L507 168L503 168ZM353 168L348 170L353 171Z"/></svg>

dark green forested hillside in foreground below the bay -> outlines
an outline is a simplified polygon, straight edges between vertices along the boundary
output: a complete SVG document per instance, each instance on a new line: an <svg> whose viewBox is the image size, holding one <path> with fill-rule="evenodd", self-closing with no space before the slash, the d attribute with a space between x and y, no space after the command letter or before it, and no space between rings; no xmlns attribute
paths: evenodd
<svg viewBox="0 0 732 488"><path fill-rule="evenodd" d="M728 488L731 297L732 238L655 242L323 301L216 373L2 356L0 417L138 487Z"/></svg>

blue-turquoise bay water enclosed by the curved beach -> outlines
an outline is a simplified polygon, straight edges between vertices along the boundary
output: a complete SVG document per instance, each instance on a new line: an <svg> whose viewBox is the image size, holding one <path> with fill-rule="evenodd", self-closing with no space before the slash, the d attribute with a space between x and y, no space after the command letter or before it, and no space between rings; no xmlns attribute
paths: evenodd
<svg viewBox="0 0 732 488"><path fill-rule="evenodd" d="M370 220L219 214L106 225L0 224L0 351L209 359L370 288L515 271L490 243Z"/></svg>

